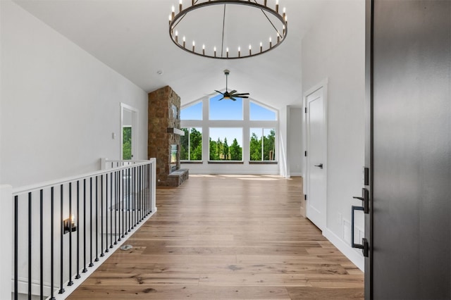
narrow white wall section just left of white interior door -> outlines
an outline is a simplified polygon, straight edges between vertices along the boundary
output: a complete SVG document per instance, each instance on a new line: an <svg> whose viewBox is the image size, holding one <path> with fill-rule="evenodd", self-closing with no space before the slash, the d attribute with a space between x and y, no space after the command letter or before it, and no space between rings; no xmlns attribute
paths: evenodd
<svg viewBox="0 0 451 300"><path fill-rule="evenodd" d="M304 150L302 145L302 108L290 107L288 123L288 161L290 175L302 176Z"/></svg>

